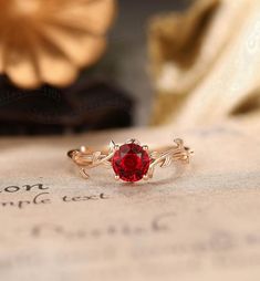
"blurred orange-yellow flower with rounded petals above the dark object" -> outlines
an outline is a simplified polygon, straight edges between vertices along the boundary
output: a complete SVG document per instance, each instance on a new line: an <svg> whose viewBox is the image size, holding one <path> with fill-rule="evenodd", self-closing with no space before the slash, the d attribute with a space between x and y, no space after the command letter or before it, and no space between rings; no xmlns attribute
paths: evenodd
<svg viewBox="0 0 260 281"><path fill-rule="evenodd" d="M0 0L0 73L64 86L105 50L115 0Z"/></svg>

